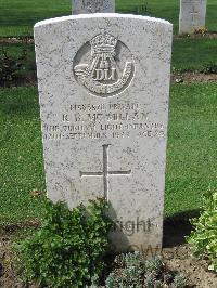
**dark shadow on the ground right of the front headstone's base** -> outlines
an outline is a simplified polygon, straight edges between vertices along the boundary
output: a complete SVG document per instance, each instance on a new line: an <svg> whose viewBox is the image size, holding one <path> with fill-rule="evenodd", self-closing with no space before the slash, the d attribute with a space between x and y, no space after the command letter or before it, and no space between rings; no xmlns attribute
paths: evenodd
<svg viewBox="0 0 217 288"><path fill-rule="evenodd" d="M169 248L187 243L186 236L193 230L190 220L200 217L200 209L176 213L164 220L163 247Z"/></svg>

